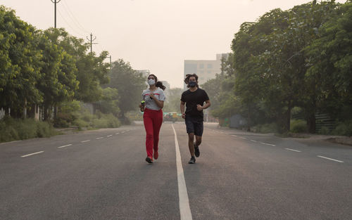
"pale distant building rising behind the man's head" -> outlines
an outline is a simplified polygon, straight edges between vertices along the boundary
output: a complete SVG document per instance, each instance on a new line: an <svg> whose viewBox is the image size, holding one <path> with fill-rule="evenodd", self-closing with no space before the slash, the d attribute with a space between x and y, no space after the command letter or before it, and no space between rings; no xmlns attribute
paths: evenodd
<svg viewBox="0 0 352 220"><path fill-rule="evenodd" d="M198 75L199 85L208 81L208 79L214 79L217 73L221 72L221 59L227 59L228 53L216 54L216 60L184 60L184 78L187 74L195 73ZM187 85L184 84L184 90L187 89Z"/></svg>

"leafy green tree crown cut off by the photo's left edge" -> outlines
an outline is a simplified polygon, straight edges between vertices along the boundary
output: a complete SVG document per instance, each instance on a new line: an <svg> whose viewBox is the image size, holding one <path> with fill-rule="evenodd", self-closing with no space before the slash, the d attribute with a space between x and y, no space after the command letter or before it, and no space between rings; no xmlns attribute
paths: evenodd
<svg viewBox="0 0 352 220"><path fill-rule="evenodd" d="M34 27L0 6L0 108L11 108L13 117L21 117L27 103L42 101L36 37Z"/></svg>

